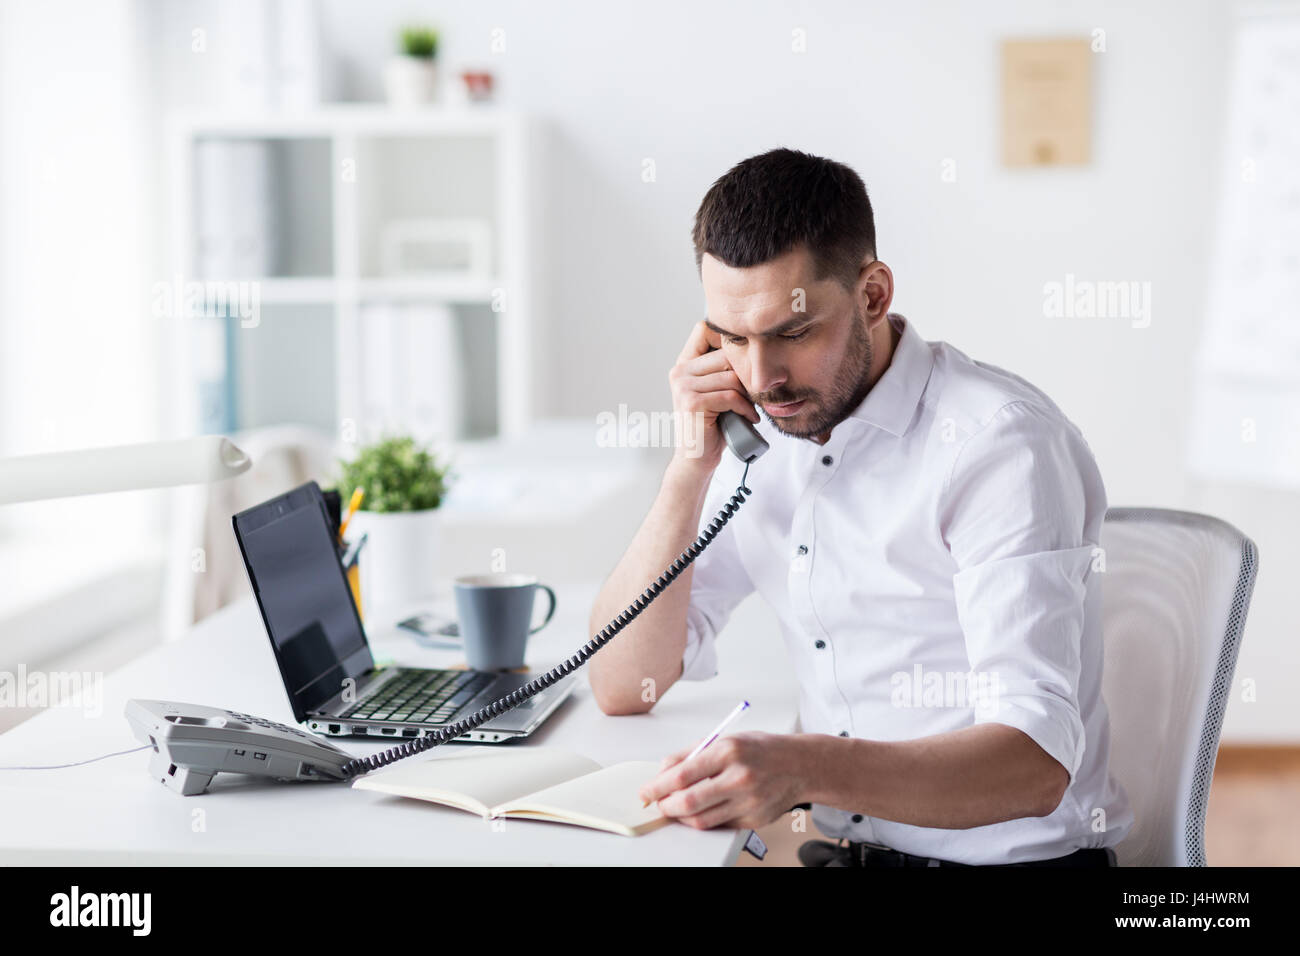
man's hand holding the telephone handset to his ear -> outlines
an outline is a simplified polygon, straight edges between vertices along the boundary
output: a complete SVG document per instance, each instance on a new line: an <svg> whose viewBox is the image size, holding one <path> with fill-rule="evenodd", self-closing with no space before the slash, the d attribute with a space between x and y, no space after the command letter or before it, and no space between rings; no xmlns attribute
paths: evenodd
<svg viewBox="0 0 1300 956"><path fill-rule="evenodd" d="M760 419L746 398L740 376L722 351L722 337L703 320L690 330L685 347L668 372L668 384L679 423L672 464L711 475L727 444L718 428L718 415L733 411L754 424Z"/></svg>

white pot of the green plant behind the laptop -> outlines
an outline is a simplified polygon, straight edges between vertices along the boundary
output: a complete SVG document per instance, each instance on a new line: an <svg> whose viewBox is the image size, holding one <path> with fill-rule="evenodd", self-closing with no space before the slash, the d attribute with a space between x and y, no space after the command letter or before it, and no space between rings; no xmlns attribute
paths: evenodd
<svg viewBox="0 0 1300 956"><path fill-rule="evenodd" d="M347 540L369 535L361 550L361 611L367 619L433 594L438 511L358 511Z"/></svg>

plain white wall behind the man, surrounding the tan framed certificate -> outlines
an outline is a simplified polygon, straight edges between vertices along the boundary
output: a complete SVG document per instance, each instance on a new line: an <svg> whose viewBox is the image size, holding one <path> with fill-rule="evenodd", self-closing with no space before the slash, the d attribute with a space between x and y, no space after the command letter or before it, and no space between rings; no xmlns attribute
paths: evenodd
<svg viewBox="0 0 1300 956"><path fill-rule="evenodd" d="M168 7L174 30L211 9ZM1258 682L1258 701L1234 700L1226 736L1300 739L1287 600L1300 496L1202 485L1183 466L1230 5L328 0L322 10L347 99L380 99L396 27L430 22L445 64L488 65L504 103L545 121L540 295L554 336L540 343L542 414L668 407L666 372L703 310L692 216L728 166L781 144L853 165L898 280L896 308L927 338L1052 394L1088 437L1113 505L1208 511L1254 537L1262 570L1238 676ZM494 27L504 53L491 52ZM803 55L790 52L796 27ZM1092 163L1004 169L998 42L1098 27ZM956 182L940 177L948 159ZM1066 273L1149 281L1150 326L1045 319L1043 286Z"/></svg>

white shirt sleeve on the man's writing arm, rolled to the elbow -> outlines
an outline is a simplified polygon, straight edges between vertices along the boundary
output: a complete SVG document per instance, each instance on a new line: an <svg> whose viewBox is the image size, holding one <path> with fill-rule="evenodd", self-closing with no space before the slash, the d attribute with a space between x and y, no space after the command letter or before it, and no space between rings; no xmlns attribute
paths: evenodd
<svg viewBox="0 0 1300 956"><path fill-rule="evenodd" d="M975 723L1023 731L1071 784L1087 747L1080 646L1104 515L1105 489L1082 434L1026 402L1004 406L966 440L941 514L978 688Z"/></svg>

